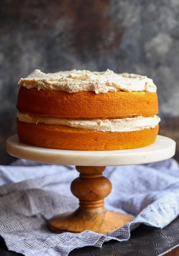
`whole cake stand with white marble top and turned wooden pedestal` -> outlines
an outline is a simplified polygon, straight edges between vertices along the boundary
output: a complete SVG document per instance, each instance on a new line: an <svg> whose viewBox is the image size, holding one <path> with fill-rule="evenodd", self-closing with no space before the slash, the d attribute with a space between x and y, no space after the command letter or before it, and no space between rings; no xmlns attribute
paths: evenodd
<svg viewBox="0 0 179 256"><path fill-rule="evenodd" d="M92 230L108 234L130 222L132 217L104 208L104 198L111 192L111 182L102 176L105 166L122 166L152 163L171 158L176 143L158 135L154 144L144 148L77 151L40 148L19 141L17 135L7 140L7 152L13 156L44 163L75 165L80 173L71 183L73 195L79 198L79 208L54 216L48 221L56 232L81 232Z"/></svg>

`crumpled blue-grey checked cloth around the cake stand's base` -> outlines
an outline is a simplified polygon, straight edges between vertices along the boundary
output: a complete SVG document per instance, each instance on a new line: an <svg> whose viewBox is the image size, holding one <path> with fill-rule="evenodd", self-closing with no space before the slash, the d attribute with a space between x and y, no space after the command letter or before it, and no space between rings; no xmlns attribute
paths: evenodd
<svg viewBox="0 0 179 256"><path fill-rule="evenodd" d="M0 235L8 249L30 256L64 256L74 248L127 240L140 223L163 228L179 214L179 166L175 160L106 167L104 176L113 185L106 208L127 212L134 220L108 236L89 230L54 234L46 219L78 207L78 199L70 191L70 183L78 177L74 166L26 160L0 166Z"/></svg>

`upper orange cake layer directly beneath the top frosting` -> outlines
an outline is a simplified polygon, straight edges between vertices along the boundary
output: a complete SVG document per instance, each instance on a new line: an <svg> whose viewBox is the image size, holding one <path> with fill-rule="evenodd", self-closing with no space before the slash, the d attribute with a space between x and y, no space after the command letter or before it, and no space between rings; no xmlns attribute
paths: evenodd
<svg viewBox="0 0 179 256"><path fill-rule="evenodd" d="M39 116L112 119L158 113L155 92L68 93L20 87L17 109Z"/></svg>

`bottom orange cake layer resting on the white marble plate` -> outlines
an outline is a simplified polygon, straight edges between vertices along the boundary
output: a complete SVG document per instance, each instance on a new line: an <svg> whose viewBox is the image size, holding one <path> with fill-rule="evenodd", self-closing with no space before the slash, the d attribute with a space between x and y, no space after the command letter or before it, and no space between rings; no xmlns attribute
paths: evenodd
<svg viewBox="0 0 179 256"><path fill-rule="evenodd" d="M140 148L155 142L159 125L129 132L82 130L64 125L28 124L17 119L19 139L27 144L68 150Z"/></svg>

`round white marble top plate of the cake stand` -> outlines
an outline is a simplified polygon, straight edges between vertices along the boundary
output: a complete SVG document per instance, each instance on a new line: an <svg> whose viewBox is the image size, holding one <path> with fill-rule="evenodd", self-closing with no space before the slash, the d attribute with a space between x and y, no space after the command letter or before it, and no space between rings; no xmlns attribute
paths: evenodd
<svg viewBox="0 0 179 256"><path fill-rule="evenodd" d="M7 140L7 152L18 158L61 165L121 166L152 163L171 158L175 154L174 140L158 135L154 144L144 148L78 151L40 148L19 141L18 135Z"/></svg>

